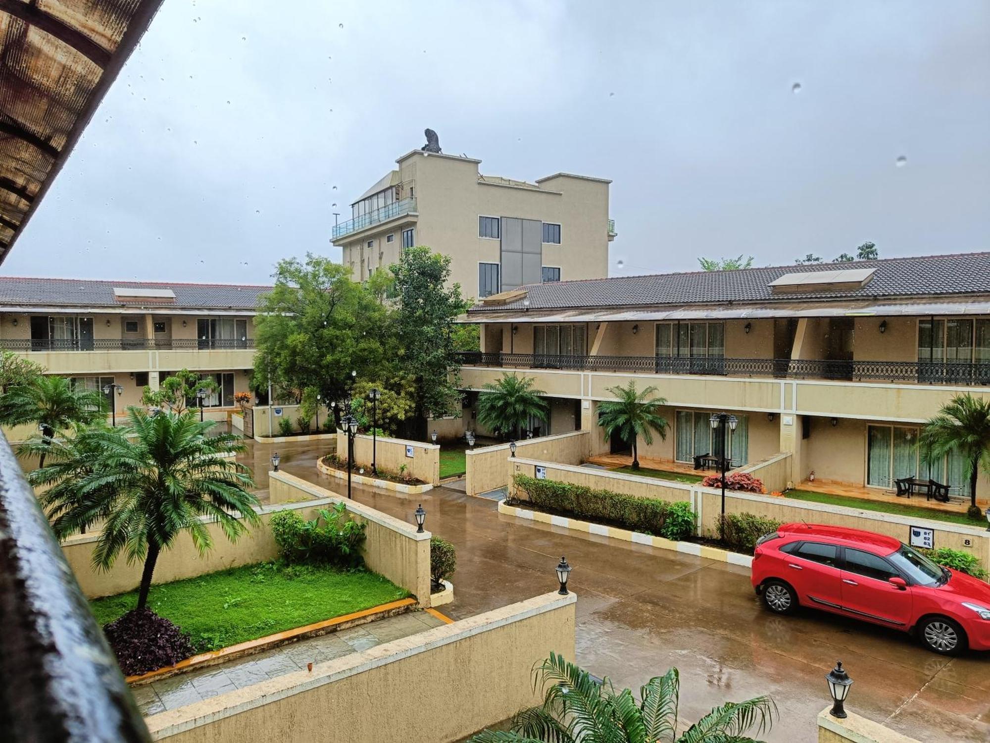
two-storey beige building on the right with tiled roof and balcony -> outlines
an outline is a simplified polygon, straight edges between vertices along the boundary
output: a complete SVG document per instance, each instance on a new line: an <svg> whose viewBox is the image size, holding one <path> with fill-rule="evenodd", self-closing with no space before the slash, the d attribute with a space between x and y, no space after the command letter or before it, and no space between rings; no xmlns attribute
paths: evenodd
<svg viewBox="0 0 990 743"><path fill-rule="evenodd" d="M534 284L463 320L482 326L465 388L534 377L551 398L541 433L595 428L610 388L635 381L656 387L670 423L641 457L728 451L738 466L790 452L794 483L918 476L968 494L967 463L926 464L918 435L952 395L990 396L990 253ZM739 419L725 444L709 424L723 411ZM593 438L596 453L625 448Z"/></svg>

